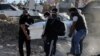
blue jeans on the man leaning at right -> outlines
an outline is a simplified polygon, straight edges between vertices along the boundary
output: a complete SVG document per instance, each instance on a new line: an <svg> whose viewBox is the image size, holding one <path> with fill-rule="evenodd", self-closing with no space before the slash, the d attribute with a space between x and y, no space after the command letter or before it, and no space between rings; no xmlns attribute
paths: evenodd
<svg viewBox="0 0 100 56"><path fill-rule="evenodd" d="M71 41L71 50L70 50L70 52L72 54L81 54L82 53L83 40L84 40L85 36L86 36L85 29L81 29L73 35L73 38Z"/></svg>

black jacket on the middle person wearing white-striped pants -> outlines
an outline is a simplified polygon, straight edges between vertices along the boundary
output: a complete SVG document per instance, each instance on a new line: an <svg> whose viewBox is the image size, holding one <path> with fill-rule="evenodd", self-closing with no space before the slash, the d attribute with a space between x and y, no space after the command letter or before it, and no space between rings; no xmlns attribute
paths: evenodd
<svg viewBox="0 0 100 56"><path fill-rule="evenodd" d="M61 28L64 26L64 24L61 24L61 21L58 19L48 19L44 35L47 36L47 39L56 39L58 38L59 32L61 32ZM63 28L63 31L65 31L65 28Z"/></svg>

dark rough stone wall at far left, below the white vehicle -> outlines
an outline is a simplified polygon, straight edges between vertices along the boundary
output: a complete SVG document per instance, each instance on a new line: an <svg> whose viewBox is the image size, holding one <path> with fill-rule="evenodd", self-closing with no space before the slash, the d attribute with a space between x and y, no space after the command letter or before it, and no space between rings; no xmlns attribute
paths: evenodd
<svg viewBox="0 0 100 56"><path fill-rule="evenodd" d="M0 21L0 44L16 41L18 37L18 24Z"/></svg>

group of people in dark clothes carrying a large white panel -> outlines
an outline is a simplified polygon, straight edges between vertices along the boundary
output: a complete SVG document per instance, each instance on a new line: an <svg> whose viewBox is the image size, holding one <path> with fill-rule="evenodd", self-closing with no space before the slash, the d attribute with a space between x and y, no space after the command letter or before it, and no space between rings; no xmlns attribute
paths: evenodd
<svg viewBox="0 0 100 56"><path fill-rule="evenodd" d="M55 56L56 54L56 43L59 35L64 35L65 26L58 16L58 9L53 8L50 12L45 12L44 17L47 18L44 31L42 34L42 39L44 42L44 52L45 56ZM72 37L71 50L66 54L81 56L83 49L83 40L88 32L85 17L78 11L77 8L69 9L70 20L73 21L69 37ZM26 10L20 16L19 20L19 53L20 56L24 56L23 53L23 43L26 43L27 56L30 56L30 36L28 27L30 24L34 23L30 15Z"/></svg>

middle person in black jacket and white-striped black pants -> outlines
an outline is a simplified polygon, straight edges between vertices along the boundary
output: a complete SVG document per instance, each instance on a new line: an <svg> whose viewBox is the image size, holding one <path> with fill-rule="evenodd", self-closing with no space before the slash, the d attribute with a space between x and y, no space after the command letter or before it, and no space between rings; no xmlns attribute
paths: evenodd
<svg viewBox="0 0 100 56"><path fill-rule="evenodd" d="M53 8L51 12L51 16L48 18L46 27L44 30L44 34L42 37L45 37L45 50L46 56L55 56L56 53L56 43L58 39L58 28L59 25L59 17L57 17L57 9Z"/></svg>

